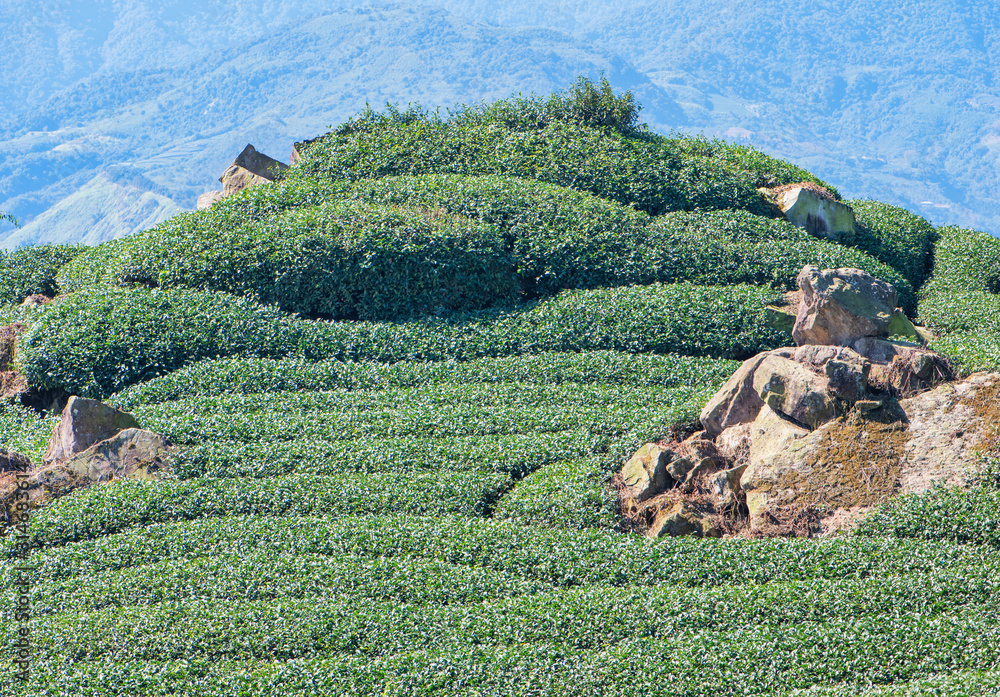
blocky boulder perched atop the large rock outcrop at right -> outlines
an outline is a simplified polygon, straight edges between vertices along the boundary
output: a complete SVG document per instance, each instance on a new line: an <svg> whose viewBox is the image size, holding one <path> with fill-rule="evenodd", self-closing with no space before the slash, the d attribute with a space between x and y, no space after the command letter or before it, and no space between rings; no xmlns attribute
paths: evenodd
<svg viewBox="0 0 1000 697"><path fill-rule="evenodd" d="M799 346L850 346L863 337L888 336L896 289L858 269L806 266L799 272L802 304L792 338Z"/></svg>

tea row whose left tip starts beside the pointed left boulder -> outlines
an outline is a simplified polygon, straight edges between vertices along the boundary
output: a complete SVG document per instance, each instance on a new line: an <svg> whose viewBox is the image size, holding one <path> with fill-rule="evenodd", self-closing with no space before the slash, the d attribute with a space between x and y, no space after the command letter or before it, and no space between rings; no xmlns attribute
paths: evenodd
<svg viewBox="0 0 1000 697"><path fill-rule="evenodd" d="M495 436L584 429L609 437L662 437L691 421L716 385L634 390L616 385L430 385L373 391L217 395L133 410L171 441L280 443L381 436Z"/></svg>

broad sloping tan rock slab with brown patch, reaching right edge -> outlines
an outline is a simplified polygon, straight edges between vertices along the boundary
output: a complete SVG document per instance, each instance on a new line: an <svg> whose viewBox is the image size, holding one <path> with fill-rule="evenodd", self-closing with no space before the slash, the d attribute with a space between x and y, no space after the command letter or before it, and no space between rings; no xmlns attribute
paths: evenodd
<svg viewBox="0 0 1000 697"><path fill-rule="evenodd" d="M998 388L1000 375L977 374L812 432L762 411L741 479L751 520L783 505L851 511L936 483L963 484L984 437L995 443L983 407Z"/></svg>

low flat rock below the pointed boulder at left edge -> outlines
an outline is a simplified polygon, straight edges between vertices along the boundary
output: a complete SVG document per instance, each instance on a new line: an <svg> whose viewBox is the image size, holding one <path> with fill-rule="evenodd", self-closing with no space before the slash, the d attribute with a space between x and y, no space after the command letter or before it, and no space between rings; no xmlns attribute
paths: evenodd
<svg viewBox="0 0 1000 697"><path fill-rule="evenodd" d="M126 478L154 479L168 468L169 443L151 431L128 428L68 460L35 470L20 488L28 497L29 507L37 508L91 484ZM12 493L0 492L0 502L9 506Z"/></svg>

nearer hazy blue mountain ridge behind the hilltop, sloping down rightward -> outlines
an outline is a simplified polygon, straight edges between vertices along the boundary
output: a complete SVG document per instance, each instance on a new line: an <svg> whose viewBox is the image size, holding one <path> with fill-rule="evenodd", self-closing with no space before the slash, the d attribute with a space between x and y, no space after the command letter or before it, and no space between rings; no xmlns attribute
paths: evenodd
<svg viewBox="0 0 1000 697"><path fill-rule="evenodd" d="M98 67L8 120L0 132L0 210L32 230L26 236L8 229L13 236L2 244L64 239L64 231L39 228L55 220L65 225L65 214L41 216L94 177L119 188L135 186L116 179L112 165L127 164L160 187L157 194L191 208L198 194L217 186L215 178L247 142L287 160L295 140L325 132L368 102L449 106L520 90L550 92L578 74L605 72L664 117L683 115L663 89L609 53L557 32L475 25L435 8L346 9L277 28L261 24L260 36L207 53L192 50L196 58L180 67L174 65L177 47L197 32L179 27L169 33L173 40L150 29L166 67L139 59L134 70ZM237 34L248 32L201 36L198 46L221 45ZM108 41L103 52L80 55L125 50L120 41ZM116 58L114 64L128 62ZM131 196L147 190L136 187ZM112 189L88 191L100 197ZM91 201L86 208L108 205ZM98 229L90 239L127 234L123 219L132 218L88 216L87 224Z"/></svg>

